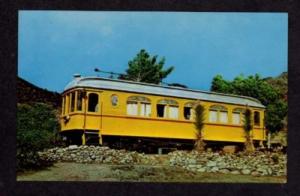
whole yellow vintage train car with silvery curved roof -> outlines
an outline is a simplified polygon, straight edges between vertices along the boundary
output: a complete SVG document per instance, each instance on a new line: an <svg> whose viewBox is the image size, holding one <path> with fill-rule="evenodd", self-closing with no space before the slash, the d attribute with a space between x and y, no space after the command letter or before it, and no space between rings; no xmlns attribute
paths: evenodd
<svg viewBox="0 0 300 196"><path fill-rule="evenodd" d="M192 145L198 102L205 108L206 142L242 144L246 108L254 144L266 140L265 106L251 97L76 75L62 100L61 134L72 144Z"/></svg>

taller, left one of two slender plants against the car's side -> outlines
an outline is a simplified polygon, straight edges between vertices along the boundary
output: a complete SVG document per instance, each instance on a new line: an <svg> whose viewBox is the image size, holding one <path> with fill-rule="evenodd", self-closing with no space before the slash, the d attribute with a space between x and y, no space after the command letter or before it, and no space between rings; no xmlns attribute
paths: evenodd
<svg viewBox="0 0 300 196"><path fill-rule="evenodd" d="M195 149L198 152L203 152L205 150L205 142L203 141L203 128L204 128L204 107L198 103L195 106L195 128L196 132L196 140L195 140Z"/></svg>

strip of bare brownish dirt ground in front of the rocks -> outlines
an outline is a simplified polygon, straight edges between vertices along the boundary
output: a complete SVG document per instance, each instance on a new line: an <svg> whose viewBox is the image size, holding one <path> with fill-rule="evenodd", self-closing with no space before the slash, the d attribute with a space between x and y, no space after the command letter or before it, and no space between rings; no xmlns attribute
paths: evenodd
<svg viewBox="0 0 300 196"><path fill-rule="evenodd" d="M286 183L286 177L254 177L219 173L195 173L166 164L109 165L60 162L44 170L18 173L18 181L117 181L117 182L225 182Z"/></svg>

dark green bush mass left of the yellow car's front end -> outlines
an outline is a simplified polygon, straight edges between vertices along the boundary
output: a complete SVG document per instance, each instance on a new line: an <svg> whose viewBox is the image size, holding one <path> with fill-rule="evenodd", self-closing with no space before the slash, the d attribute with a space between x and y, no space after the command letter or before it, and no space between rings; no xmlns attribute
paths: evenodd
<svg viewBox="0 0 300 196"><path fill-rule="evenodd" d="M51 165L37 154L53 147L58 140L59 122L55 110L42 103L18 104L17 170Z"/></svg>

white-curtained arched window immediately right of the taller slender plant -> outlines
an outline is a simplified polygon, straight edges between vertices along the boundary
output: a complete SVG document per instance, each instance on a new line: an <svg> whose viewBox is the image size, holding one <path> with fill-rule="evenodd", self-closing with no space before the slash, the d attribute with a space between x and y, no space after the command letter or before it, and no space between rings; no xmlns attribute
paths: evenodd
<svg viewBox="0 0 300 196"><path fill-rule="evenodd" d="M222 105L213 105L209 108L209 122L228 123L228 110Z"/></svg>

